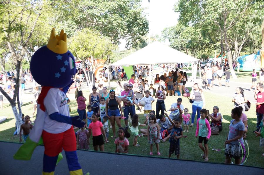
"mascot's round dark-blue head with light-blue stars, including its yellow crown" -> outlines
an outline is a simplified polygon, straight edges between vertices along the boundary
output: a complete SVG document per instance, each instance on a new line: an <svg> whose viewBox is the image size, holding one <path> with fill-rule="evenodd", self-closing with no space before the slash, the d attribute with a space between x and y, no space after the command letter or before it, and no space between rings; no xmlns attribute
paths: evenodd
<svg viewBox="0 0 264 175"><path fill-rule="evenodd" d="M30 70L35 81L42 86L63 88L70 84L77 69L63 30L56 35L55 29L52 29L48 44L32 56Z"/></svg>

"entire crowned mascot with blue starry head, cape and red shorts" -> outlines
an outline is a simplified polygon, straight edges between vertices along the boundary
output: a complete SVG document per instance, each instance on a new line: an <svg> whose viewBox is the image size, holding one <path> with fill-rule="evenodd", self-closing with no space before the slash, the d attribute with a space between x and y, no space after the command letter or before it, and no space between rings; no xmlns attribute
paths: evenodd
<svg viewBox="0 0 264 175"><path fill-rule="evenodd" d="M57 160L65 151L71 175L82 174L76 153L76 137L72 125L83 127L79 116L70 117L65 93L73 83L77 73L74 56L67 48L67 35L61 30L55 34L53 28L46 46L38 49L30 62L33 78L43 87L38 97L35 125L26 142L14 155L18 160L30 160L33 150L42 143L45 147L43 157L44 175L54 174ZM42 139L41 139L42 138ZM59 154L61 156L59 156Z"/></svg>

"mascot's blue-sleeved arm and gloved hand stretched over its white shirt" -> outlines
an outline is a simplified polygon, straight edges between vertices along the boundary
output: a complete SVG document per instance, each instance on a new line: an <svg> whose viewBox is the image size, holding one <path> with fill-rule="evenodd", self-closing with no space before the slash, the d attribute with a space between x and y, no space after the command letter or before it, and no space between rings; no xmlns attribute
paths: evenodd
<svg viewBox="0 0 264 175"><path fill-rule="evenodd" d="M54 112L50 114L50 119L55 120L57 122L62 122L62 123L67 123L67 124L72 124L78 128L84 127L84 122L79 119L79 116L75 117L69 117L66 115L62 115L59 112Z"/></svg>

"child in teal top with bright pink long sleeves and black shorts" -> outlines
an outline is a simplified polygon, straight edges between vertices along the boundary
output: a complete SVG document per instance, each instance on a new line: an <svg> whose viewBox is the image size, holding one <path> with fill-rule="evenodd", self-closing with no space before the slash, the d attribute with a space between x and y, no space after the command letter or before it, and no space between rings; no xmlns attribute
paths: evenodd
<svg viewBox="0 0 264 175"><path fill-rule="evenodd" d="M198 138L199 147L204 152L204 155L202 155L204 161L207 162L208 161L208 151L209 151L207 143L211 136L211 127L210 127L208 120L206 119L207 110L201 109L200 115L201 115L201 118L197 120L197 128L195 132L195 137L197 138L199 135L199 138ZM202 145L203 141L204 141L204 147Z"/></svg>

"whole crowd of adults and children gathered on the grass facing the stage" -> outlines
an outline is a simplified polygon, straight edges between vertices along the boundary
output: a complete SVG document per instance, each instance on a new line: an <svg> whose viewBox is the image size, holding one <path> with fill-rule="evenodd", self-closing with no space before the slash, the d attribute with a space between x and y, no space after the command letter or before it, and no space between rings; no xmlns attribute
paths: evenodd
<svg viewBox="0 0 264 175"><path fill-rule="evenodd" d="M178 66L178 65L177 65ZM141 67L136 72L141 72L141 69L145 68L145 72L148 72L147 67ZM181 68L181 65L180 67ZM121 70L122 71L122 70ZM263 71L263 70L262 70ZM228 73L226 67L226 83L229 83L230 72ZM143 71L144 73L144 71ZM203 74L203 85L208 81L208 88L212 88L211 77L218 76L219 84L223 71L221 67L216 65L207 67L204 79ZM254 70L253 70L254 73ZM104 72L100 74L102 77ZM229 78L228 78L229 75ZM81 79L82 74L78 74L76 79ZM209 78L207 77L209 76ZM253 74L252 74L253 76ZM254 77L254 76L253 76ZM25 76L23 77L25 78ZM105 78L105 77L104 77ZM219 107L214 106L213 112L209 113L209 110L205 109L206 100L204 98L203 88L200 88L197 83L194 83L192 91L190 92L190 102L192 103L192 115L189 114L189 109L184 107L182 104L182 90L186 93L185 84L188 81L186 72L179 71L178 68L172 71L168 71L167 74L159 76L156 74L153 84L148 84L148 80L141 74L132 74L131 79L128 82L123 83L117 82L117 88L108 89L103 87L102 84L98 85L99 88L93 86L92 93L86 98L81 90L77 94L77 112L81 120L85 122L85 126L80 128L76 132L77 146L79 149L89 149L89 138L92 134L92 144L94 150L104 151L104 144L108 143L109 140L109 128L112 129L116 144L116 153L128 153L129 141L128 138L133 135L133 146L140 146L138 144L138 137L147 136L148 143L150 144L150 155L153 155L153 145L155 144L157 155L160 155L160 142L170 142L169 157L173 153L180 157L180 138L184 138L184 132L189 132L189 127L196 126L195 137L198 138L199 148L203 152L204 161L209 160L208 142L213 130L217 128L218 133L223 129L222 119L223 116L219 112ZM24 83L27 79L24 80ZM78 83L81 83L81 81ZM76 83L74 83L76 86ZM220 85L221 86L221 85ZM204 86L203 86L204 87ZM9 88L9 87L8 87ZM12 88L12 86L11 86ZM78 88L78 87L77 87ZM177 97L177 101L172 103L170 109L166 110L165 100L167 96L173 96L175 89L180 90L180 97ZM255 99L256 99L256 115L257 115L257 128L255 133L260 137L260 146L264 146L263 138L263 114L264 114L264 87L263 83L259 82L255 88ZM34 89L34 112L35 105L37 103L38 88ZM70 102L67 99L68 103ZM88 101L88 102L87 102ZM156 101L156 106L153 110L152 103ZM236 93L233 96L232 102L234 108L231 111L232 120L229 126L229 135L226 139L225 145L225 163L231 163L231 158L235 159L235 163L239 164L241 161L241 148L239 144L243 144L243 138L247 137L248 122L245 114L245 104L248 103L247 98L244 95L244 90L241 87L236 88ZM138 107L137 110L144 110L145 121L143 124L139 122L139 116L136 114L135 105ZM166 112L170 112L167 114ZM191 112L191 111L190 111ZM195 116L197 118L195 120ZM109 122L110 120L110 127ZM121 121L124 120L124 126ZM24 141L26 140L32 125L30 117L26 116L23 119L24 124L21 126L20 136L23 136ZM211 123L209 123L211 121ZM130 122L130 123L129 123ZM116 129L116 125L118 128ZM147 126L147 129L139 127ZM88 130L87 130L88 129ZM129 132L130 130L131 132ZM140 133L139 133L140 132ZM239 141L238 141L239 140ZM22 141L22 139L20 139ZM202 145L204 143L204 145ZM264 156L264 154L262 154Z"/></svg>

